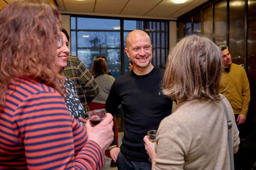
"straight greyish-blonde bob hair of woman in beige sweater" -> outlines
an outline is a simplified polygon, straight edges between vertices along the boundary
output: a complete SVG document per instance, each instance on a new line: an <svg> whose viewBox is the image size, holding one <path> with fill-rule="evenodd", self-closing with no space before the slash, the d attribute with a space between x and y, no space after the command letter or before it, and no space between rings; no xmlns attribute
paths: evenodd
<svg viewBox="0 0 256 170"><path fill-rule="evenodd" d="M184 37L168 56L163 94L180 101L220 100L221 49L206 37Z"/></svg>

